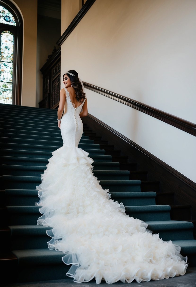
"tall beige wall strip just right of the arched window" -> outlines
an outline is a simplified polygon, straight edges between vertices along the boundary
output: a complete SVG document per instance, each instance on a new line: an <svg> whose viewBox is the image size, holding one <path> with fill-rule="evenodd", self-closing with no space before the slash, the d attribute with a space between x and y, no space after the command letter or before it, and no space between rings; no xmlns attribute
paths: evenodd
<svg viewBox="0 0 196 287"><path fill-rule="evenodd" d="M36 104L37 1L12 1L23 18L22 106Z"/></svg>

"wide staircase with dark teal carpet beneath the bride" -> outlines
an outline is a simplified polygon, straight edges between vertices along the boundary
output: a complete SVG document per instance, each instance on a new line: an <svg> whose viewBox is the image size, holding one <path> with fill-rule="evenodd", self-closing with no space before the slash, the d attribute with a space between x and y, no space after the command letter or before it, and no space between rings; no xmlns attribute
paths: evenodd
<svg viewBox="0 0 196 287"><path fill-rule="evenodd" d="M51 152L61 147L57 110L0 104L1 160L1 282L31 282L67 278L70 266L61 252L47 248L49 228L36 225L40 216L36 185ZM120 150L108 145L84 125L79 148L95 160L94 175L109 188L126 213L148 223L148 229L181 246L189 267L196 266L196 237L190 206L176 206L174 193L161 193L159 182L148 181ZM9 278L3 278L9 270Z"/></svg>

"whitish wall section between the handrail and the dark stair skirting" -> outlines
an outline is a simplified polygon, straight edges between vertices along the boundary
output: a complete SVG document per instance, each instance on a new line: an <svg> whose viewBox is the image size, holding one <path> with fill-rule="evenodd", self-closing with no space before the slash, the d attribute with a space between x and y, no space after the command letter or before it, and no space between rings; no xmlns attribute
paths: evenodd
<svg viewBox="0 0 196 287"><path fill-rule="evenodd" d="M101 94L86 92L91 115L196 182L196 137Z"/></svg>

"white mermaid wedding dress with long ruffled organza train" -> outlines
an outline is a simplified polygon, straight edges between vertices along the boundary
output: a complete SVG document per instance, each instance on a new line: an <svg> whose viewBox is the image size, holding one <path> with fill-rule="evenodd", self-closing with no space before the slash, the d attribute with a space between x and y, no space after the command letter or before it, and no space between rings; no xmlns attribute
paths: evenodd
<svg viewBox="0 0 196 287"><path fill-rule="evenodd" d="M38 190L37 224L52 229L49 249L63 251L71 264L66 273L74 282L96 283L159 280L186 272L187 258L180 247L147 230L147 224L125 214L122 203L110 199L93 175L93 159L78 148L83 125L66 90L61 120L63 146L49 159ZM85 101L85 100L84 100Z"/></svg>

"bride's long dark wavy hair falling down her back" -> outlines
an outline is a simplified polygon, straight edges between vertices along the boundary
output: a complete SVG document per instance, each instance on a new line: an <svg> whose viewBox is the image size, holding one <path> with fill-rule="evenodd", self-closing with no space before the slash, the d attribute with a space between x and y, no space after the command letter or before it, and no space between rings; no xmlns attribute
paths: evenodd
<svg viewBox="0 0 196 287"><path fill-rule="evenodd" d="M85 99L86 94L84 93L82 84L80 83L80 80L78 78L78 73L74 70L69 70L64 75L67 75L68 78L70 78L70 81L72 82L72 87L76 91L76 100L78 102L82 102L82 99ZM64 80L64 75L63 75L63 80Z"/></svg>

